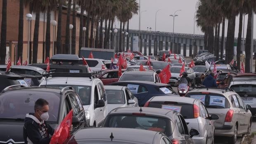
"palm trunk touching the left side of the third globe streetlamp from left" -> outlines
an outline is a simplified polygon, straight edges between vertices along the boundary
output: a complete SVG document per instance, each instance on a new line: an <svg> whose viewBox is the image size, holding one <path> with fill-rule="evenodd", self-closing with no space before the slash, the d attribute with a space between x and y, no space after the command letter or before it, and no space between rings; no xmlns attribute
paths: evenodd
<svg viewBox="0 0 256 144"><path fill-rule="evenodd" d="M71 11L71 1L68 2L68 12L66 14L66 38L65 38L65 53L69 54L69 42L70 42L70 31L69 31L69 24L70 24L70 11Z"/></svg>

